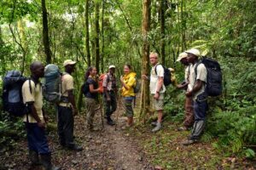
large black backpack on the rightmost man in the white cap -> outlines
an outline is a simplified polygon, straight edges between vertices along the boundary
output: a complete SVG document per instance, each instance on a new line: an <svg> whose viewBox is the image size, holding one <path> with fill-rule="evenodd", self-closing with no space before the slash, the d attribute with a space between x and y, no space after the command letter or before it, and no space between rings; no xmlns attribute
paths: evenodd
<svg viewBox="0 0 256 170"><path fill-rule="evenodd" d="M204 57L195 65L195 77L197 76L197 66L204 64L207 68L206 92L209 96L222 94L222 72L218 61Z"/></svg>

